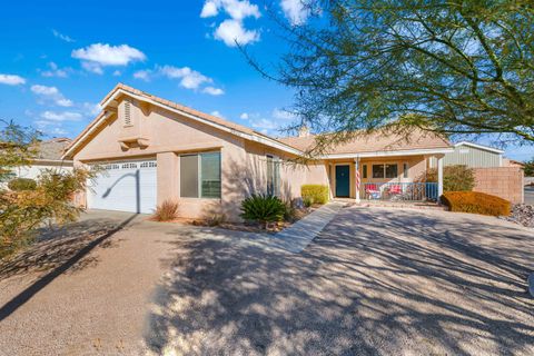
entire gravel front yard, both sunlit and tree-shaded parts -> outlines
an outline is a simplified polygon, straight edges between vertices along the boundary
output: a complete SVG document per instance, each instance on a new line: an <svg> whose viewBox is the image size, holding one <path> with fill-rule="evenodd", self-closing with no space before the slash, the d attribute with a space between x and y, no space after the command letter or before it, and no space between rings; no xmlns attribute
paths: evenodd
<svg viewBox="0 0 534 356"><path fill-rule="evenodd" d="M534 354L532 229L346 208L291 254L127 217L0 265L0 355Z"/></svg>

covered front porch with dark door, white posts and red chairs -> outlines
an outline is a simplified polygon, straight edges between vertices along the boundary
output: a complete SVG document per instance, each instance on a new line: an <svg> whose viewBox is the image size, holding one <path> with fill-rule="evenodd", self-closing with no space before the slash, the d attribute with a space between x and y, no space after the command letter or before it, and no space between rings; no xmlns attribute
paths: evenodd
<svg viewBox="0 0 534 356"><path fill-rule="evenodd" d="M364 201L437 201L443 194L443 154L332 159L327 161L333 199ZM429 160L437 161L437 181L426 181Z"/></svg>

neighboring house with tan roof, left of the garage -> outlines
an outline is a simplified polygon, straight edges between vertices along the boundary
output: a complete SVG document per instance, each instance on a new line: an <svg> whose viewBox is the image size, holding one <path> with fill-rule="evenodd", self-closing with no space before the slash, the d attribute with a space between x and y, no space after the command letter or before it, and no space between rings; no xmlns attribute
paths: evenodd
<svg viewBox="0 0 534 356"><path fill-rule="evenodd" d="M69 138L53 138L40 141L38 155L29 166L17 167L12 177L37 179L44 169L71 170L72 160L63 160L65 149L70 145Z"/></svg>

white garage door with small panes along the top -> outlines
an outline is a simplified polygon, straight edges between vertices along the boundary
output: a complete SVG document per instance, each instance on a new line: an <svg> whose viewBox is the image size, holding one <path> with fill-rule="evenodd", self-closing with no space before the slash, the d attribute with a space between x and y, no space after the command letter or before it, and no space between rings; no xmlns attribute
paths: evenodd
<svg viewBox="0 0 534 356"><path fill-rule="evenodd" d="M89 209L151 214L157 201L155 160L113 162L89 182Z"/></svg>

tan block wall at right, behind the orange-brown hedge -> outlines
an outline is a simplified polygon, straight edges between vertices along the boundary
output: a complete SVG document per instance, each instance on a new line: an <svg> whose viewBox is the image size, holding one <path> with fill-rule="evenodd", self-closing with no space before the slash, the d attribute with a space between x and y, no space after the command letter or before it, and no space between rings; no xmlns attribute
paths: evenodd
<svg viewBox="0 0 534 356"><path fill-rule="evenodd" d="M474 191L482 191L510 200L512 204L524 201L523 169L518 167L473 168L475 175Z"/></svg>

